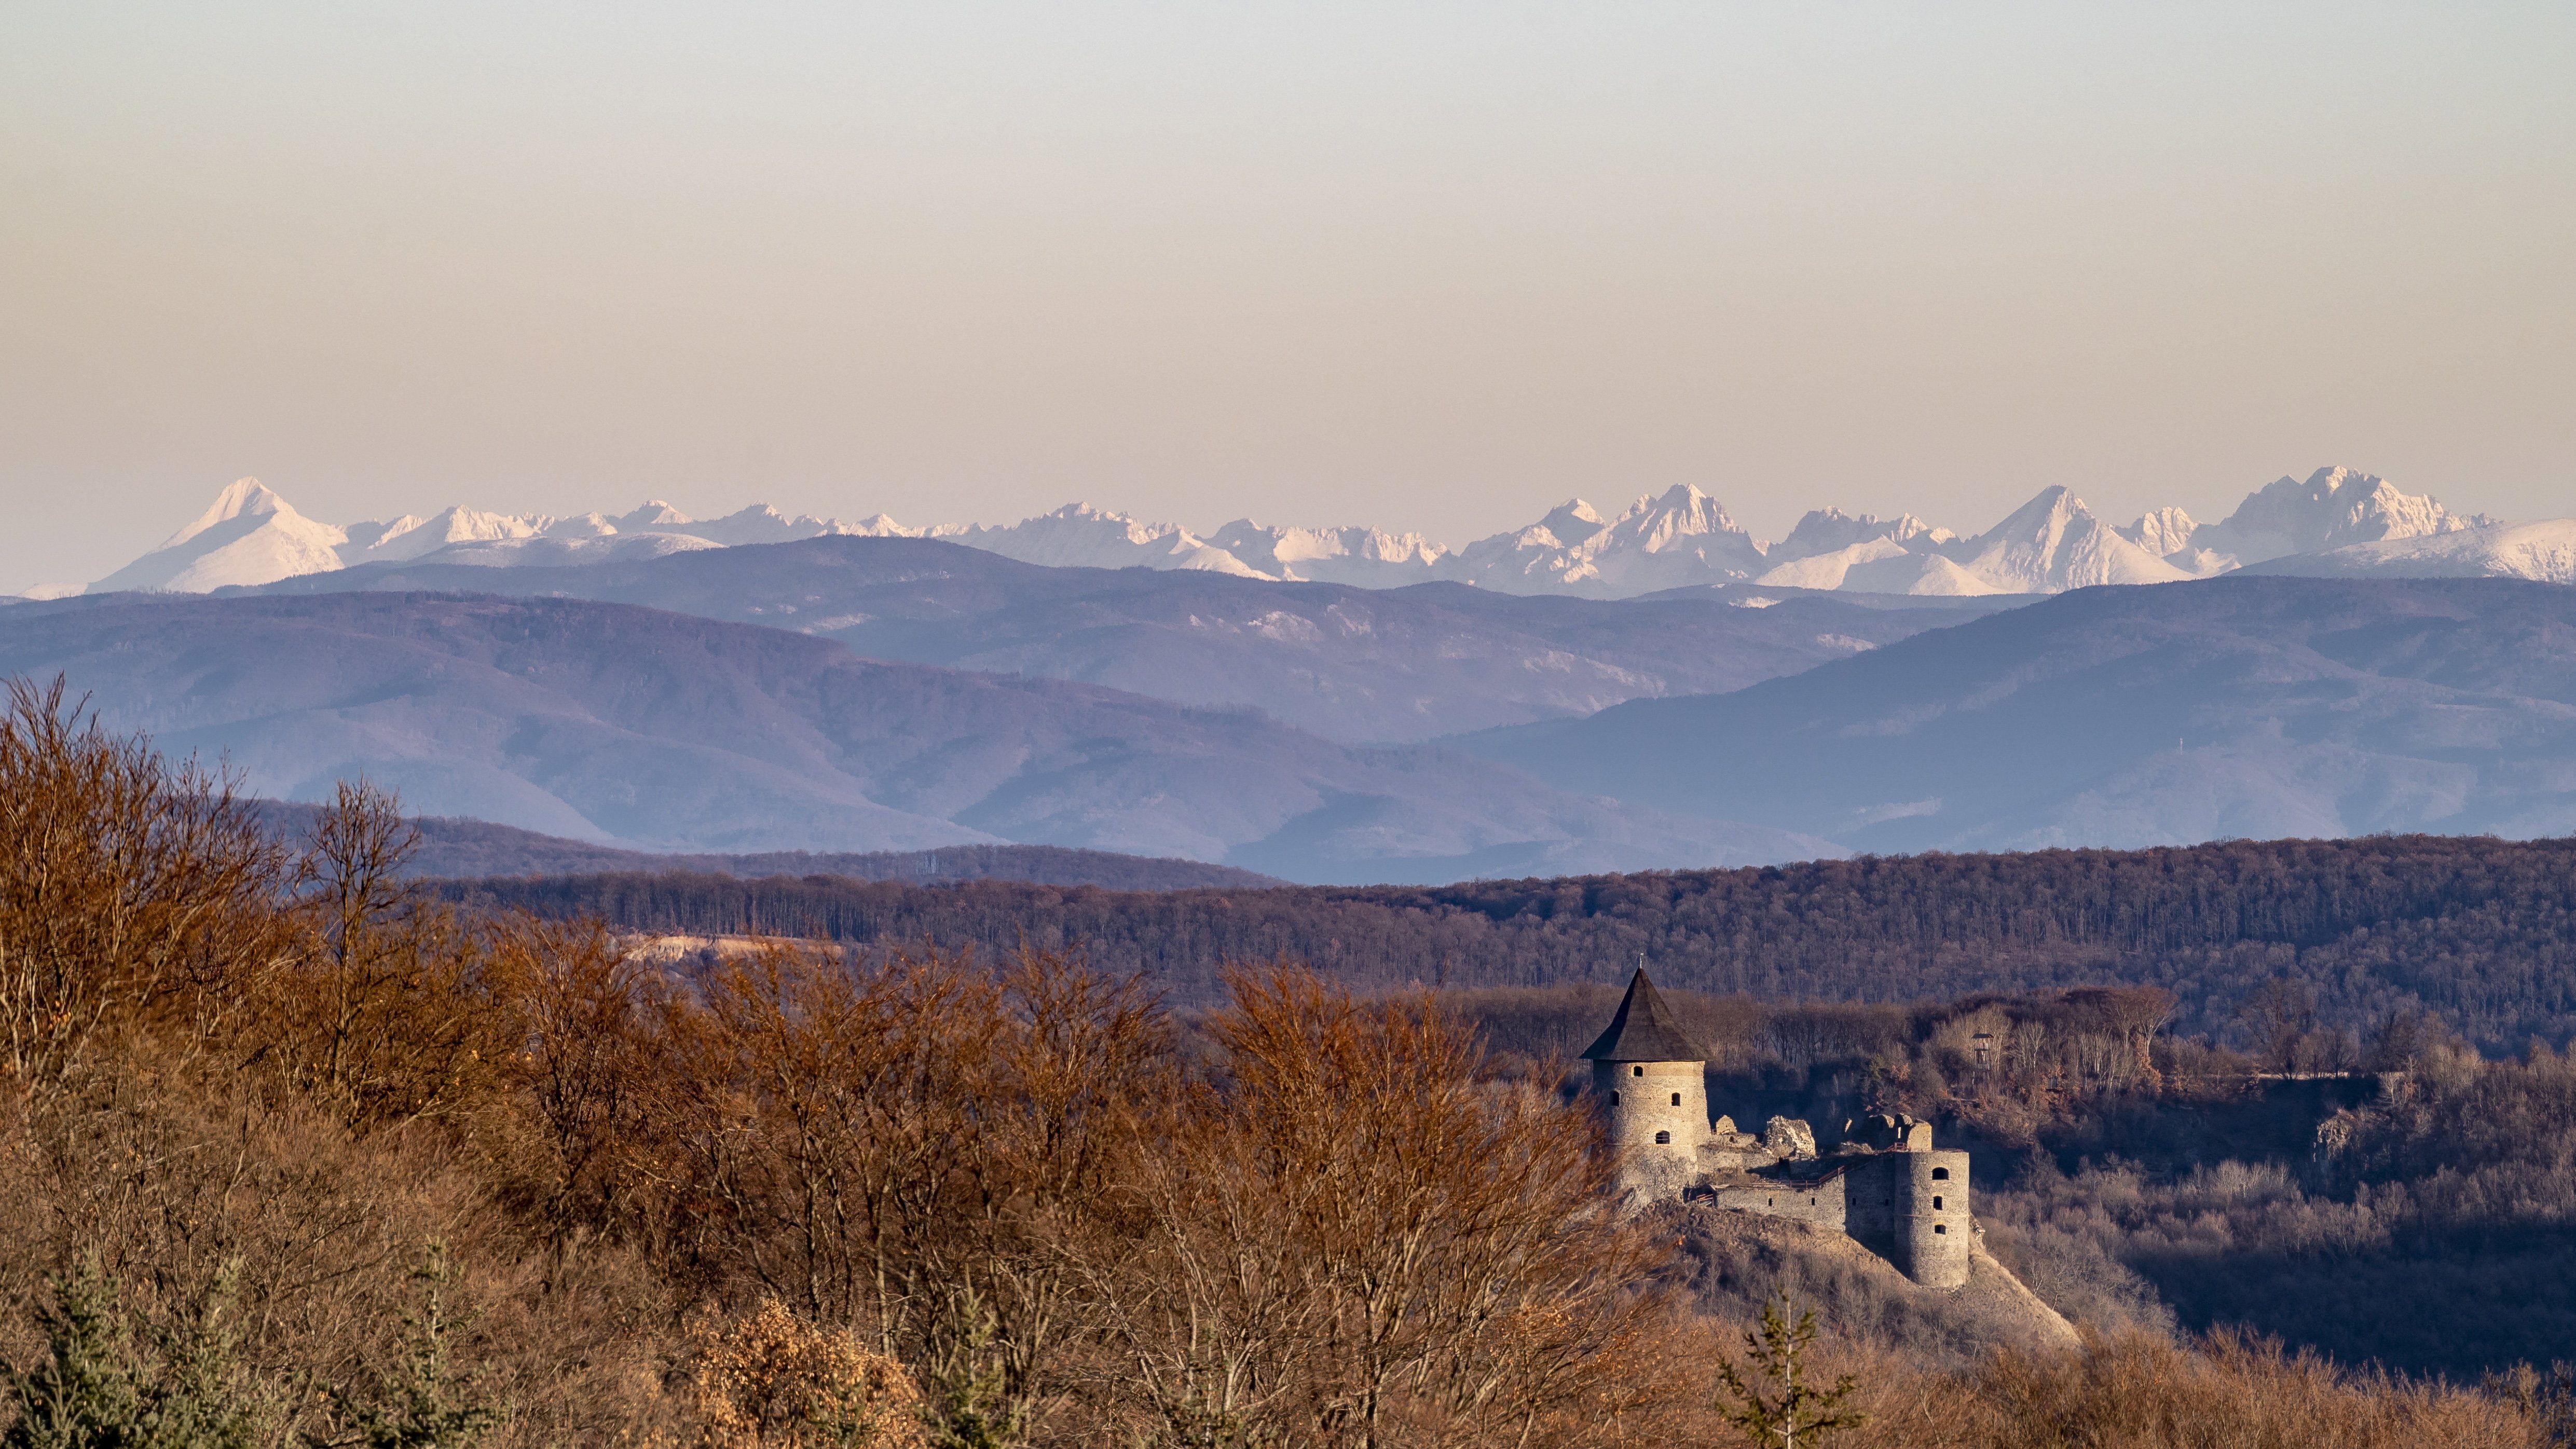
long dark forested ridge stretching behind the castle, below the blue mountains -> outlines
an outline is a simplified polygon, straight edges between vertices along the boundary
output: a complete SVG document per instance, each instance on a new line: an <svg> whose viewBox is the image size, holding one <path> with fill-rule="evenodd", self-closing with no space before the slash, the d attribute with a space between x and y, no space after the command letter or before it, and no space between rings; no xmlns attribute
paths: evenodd
<svg viewBox="0 0 2576 1449"><path fill-rule="evenodd" d="M1177 1000L1208 998L1226 959L1293 957L1365 987L1610 982L1643 959L1667 985L1757 998L2159 985L2195 1034L2228 1031L2269 982L2298 982L2318 1024L2349 1031L2421 1008L2488 1049L2576 1034L2576 841L2228 841L1437 890L1149 895L701 874L443 890L662 933L1079 946Z"/></svg>

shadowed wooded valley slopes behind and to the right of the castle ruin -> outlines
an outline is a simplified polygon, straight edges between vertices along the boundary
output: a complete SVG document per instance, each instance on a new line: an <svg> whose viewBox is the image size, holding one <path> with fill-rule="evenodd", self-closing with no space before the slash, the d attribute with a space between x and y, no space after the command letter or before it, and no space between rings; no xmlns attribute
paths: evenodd
<svg viewBox="0 0 2576 1449"><path fill-rule="evenodd" d="M1618 993L1440 1000L1538 1067L1582 1052ZM2156 987L1667 1003L1736 1124L1785 1114L1832 1142L1870 1111L1932 1122L1973 1158L1989 1250L2097 1333L2241 1325L2455 1379L2576 1343L2571 1055L2481 1060L2419 1016L2347 1034L2287 985L2249 1011L2249 1052L2164 1029ZM1839 1323L1924 1338L1886 1294L1832 1274L1808 1292Z"/></svg>

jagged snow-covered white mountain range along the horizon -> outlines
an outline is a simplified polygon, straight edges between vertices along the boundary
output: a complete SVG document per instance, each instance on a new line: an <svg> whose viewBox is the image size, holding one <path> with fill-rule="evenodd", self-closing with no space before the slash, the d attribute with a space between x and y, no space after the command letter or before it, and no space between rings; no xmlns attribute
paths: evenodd
<svg viewBox="0 0 2576 1449"><path fill-rule="evenodd" d="M2537 534L2532 534L2537 529ZM1448 549L1422 534L1296 529L1239 518L1208 534L1074 503L1007 526L907 529L884 513L842 523L752 505L690 518L667 503L623 516L484 513L319 523L258 480L216 495L157 549L85 593L206 593L371 562L580 565L683 549L781 544L822 534L948 539L1054 567L1216 570L1239 578L1363 588L1455 580L1502 593L1631 598L1664 588L1754 583L1857 593L1984 596L2063 593L2099 583L2174 583L2277 559L2264 572L2470 572L2576 583L2576 521L2501 526L2398 492L2344 467L2254 490L2221 523L2159 508L2112 526L2069 487L2045 487L1984 534L1958 536L1904 513L1878 518L1819 508L1777 544L1744 531L1698 487L1638 498L1615 516L1571 500L1546 518ZM52 596L70 588L44 590Z"/></svg>

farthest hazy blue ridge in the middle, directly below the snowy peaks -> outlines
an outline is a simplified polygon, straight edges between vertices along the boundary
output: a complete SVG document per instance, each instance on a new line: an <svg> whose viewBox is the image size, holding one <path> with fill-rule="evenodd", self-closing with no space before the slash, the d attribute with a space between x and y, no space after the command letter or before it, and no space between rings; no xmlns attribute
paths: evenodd
<svg viewBox="0 0 2576 1449"><path fill-rule="evenodd" d="M1455 583L1368 590L1203 570L1038 567L938 539L835 536L507 570L443 557L301 575L265 590L641 603L840 639L878 660L1249 706L1342 743L1412 743L1592 714L1623 699L1741 688L2020 603L1862 603L1747 585L1633 601Z"/></svg>

